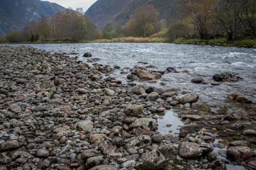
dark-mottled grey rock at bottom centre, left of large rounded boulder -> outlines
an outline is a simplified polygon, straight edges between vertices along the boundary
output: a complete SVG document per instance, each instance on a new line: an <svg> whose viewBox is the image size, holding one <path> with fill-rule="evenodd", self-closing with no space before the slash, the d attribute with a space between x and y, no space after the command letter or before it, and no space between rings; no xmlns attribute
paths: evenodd
<svg viewBox="0 0 256 170"><path fill-rule="evenodd" d="M152 144L152 139L150 136L141 135L132 139L130 142L126 144L126 149L129 148L145 148L149 147Z"/></svg>

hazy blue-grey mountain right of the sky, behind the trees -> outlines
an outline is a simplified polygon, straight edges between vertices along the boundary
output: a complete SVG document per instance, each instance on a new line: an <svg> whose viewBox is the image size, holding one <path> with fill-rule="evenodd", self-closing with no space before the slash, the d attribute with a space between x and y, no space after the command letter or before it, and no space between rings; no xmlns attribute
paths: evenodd
<svg viewBox="0 0 256 170"><path fill-rule="evenodd" d="M181 13L180 0L98 0L85 14L102 29L107 23L124 25L136 8L146 5L152 5L167 22Z"/></svg>

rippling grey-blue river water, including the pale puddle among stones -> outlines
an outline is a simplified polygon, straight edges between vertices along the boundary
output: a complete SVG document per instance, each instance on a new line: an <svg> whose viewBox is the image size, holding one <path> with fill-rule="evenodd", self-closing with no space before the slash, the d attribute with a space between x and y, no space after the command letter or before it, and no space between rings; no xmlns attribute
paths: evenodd
<svg viewBox="0 0 256 170"><path fill-rule="evenodd" d="M9 45L9 44L8 44ZM178 90L191 90L200 95L200 100L208 105L223 105L226 94L238 93L256 102L256 49L194 46L167 43L89 43L89 44L11 44L9 46L31 46L49 52L67 53L78 56L81 61L85 52L92 53L98 58L97 63L121 67L112 76L126 82L129 68L134 66L164 71L167 67L174 67L179 73L168 73L155 84L164 81L164 88L177 88ZM72 54L71 54L72 53ZM152 67L153 66L153 67ZM124 72L123 74L120 74ZM214 74L230 72L243 77L240 82L220 83L213 86ZM191 83L193 77L201 76L206 84ZM138 82L144 83L146 82ZM162 134L168 132L179 133L182 121L178 117L179 111L172 109L158 117L158 131ZM218 152L218 148L214 148ZM242 166L227 165L227 169L244 169Z"/></svg>

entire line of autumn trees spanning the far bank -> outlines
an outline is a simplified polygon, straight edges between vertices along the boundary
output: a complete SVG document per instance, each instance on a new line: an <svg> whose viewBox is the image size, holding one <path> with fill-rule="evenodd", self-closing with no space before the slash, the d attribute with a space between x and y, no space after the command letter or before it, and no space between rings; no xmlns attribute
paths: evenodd
<svg viewBox="0 0 256 170"><path fill-rule="evenodd" d="M256 38L255 0L181 0L182 13L170 23L160 19L152 5L138 7L125 25L109 23L102 30L81 13L67 10L39 22L31 22L22 31L0 37L0 43L22 41L82 41L97 38L150 37L164 30L170 41L178 38L209 40Z"/></svg>

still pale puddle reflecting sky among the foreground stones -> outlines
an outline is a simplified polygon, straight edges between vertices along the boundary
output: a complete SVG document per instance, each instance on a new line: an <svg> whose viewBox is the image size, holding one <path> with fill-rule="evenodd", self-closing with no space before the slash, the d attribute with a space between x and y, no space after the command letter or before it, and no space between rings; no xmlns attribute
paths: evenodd
<svg viewBox="0 0 256 170"><path fill-rule="evenodd" d="M158 115L158 132L162 135L167 133L179 133L180 126L183 126L181 119L174 109L165 111L164 114Z"/></svg>

